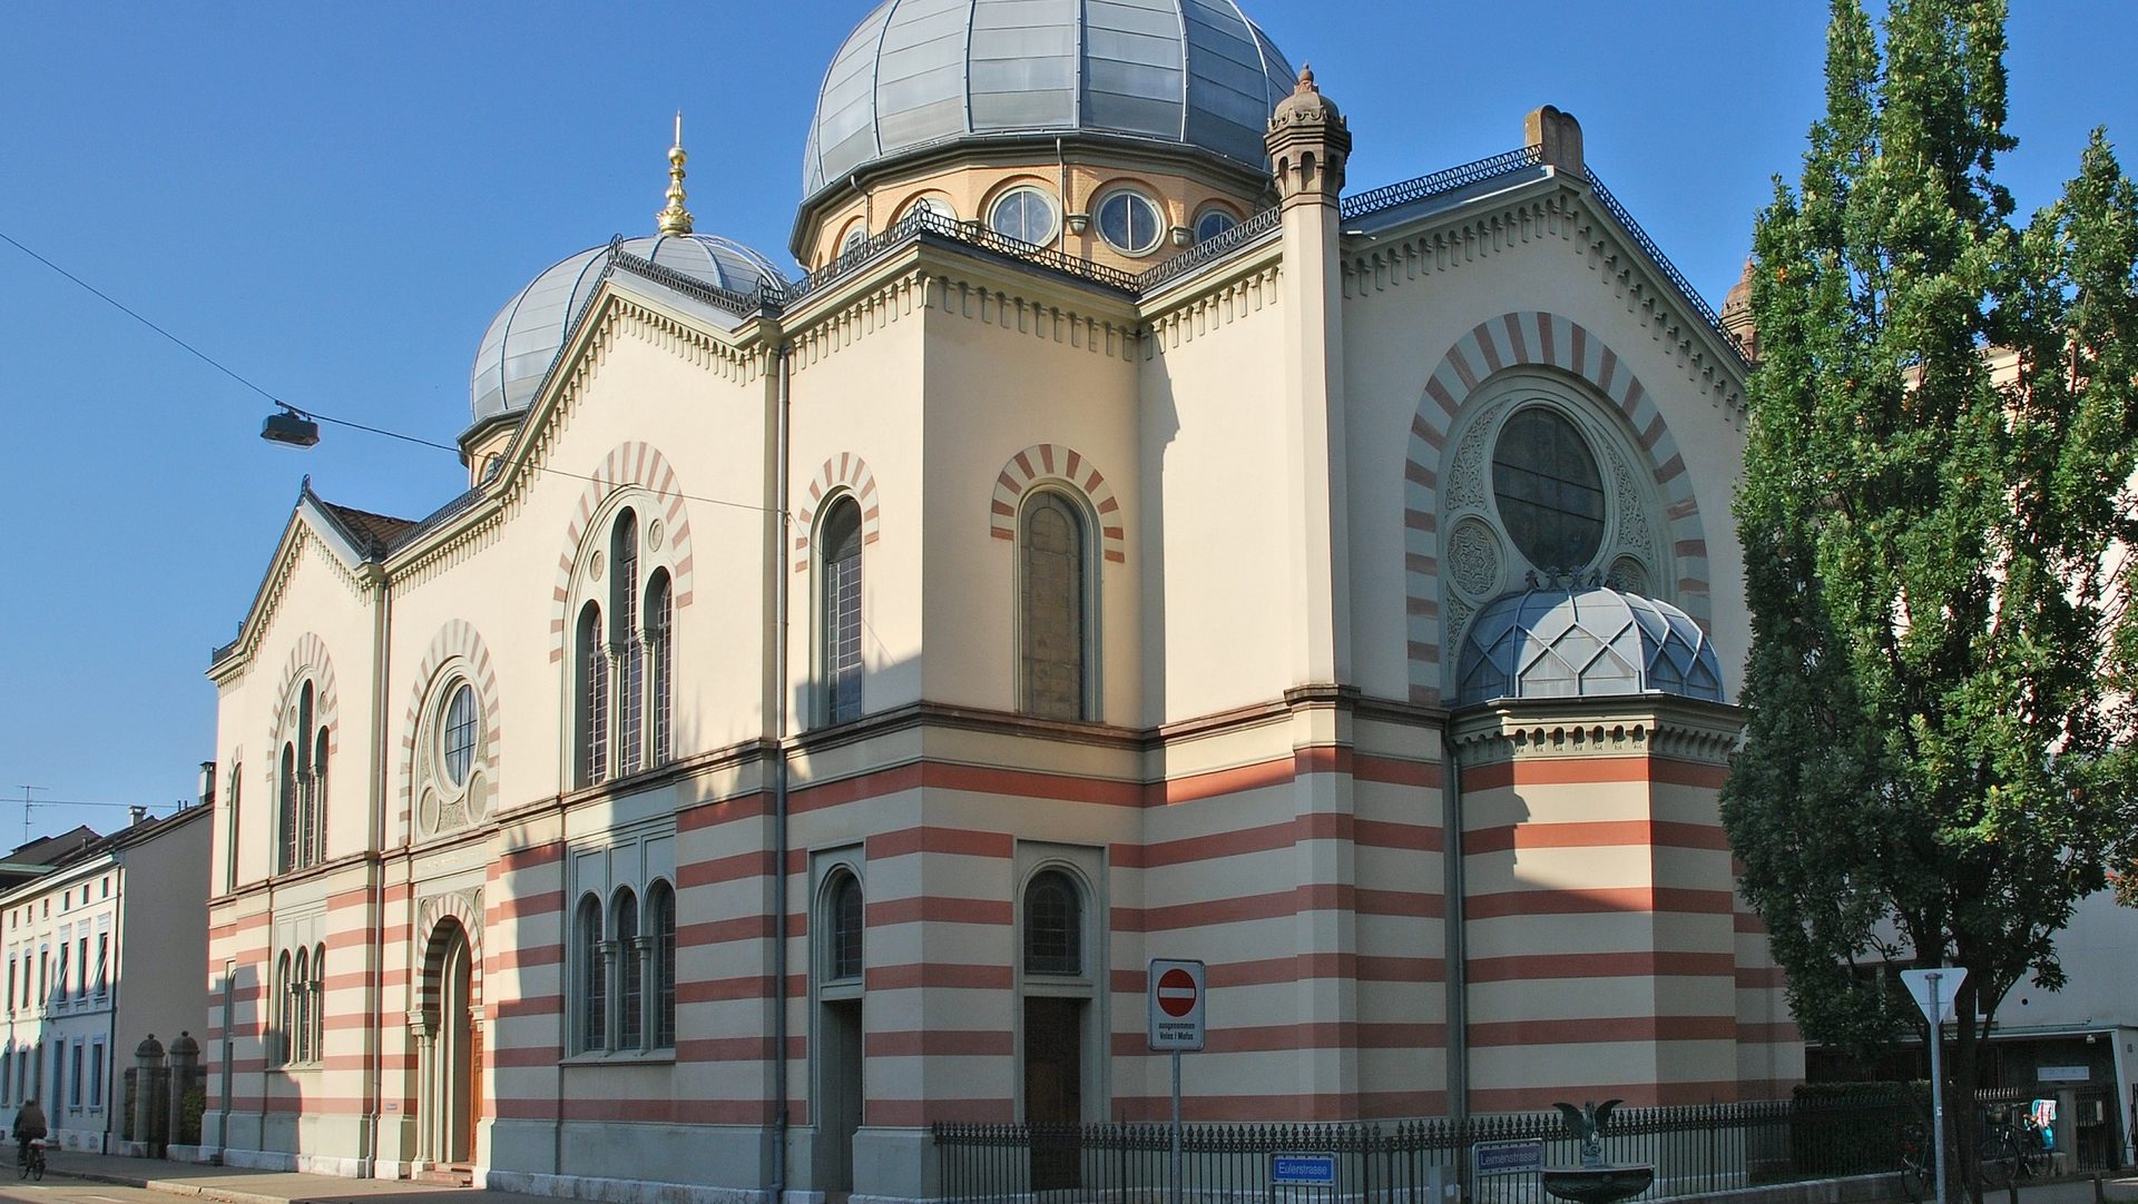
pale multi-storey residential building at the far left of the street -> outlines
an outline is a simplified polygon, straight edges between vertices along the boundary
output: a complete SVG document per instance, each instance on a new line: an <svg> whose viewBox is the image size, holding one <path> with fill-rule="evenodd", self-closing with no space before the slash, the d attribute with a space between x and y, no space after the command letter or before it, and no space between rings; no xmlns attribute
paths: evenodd
<svg viewBox="0 0 2138 1204"><path fill-rule="evenodd" d="M41 1102L64 1148L115 1151L135 1046L205 1029L192 959L207 956L210 813L186 807L109 837L79 828L88 841L0 894L0 1108Z"/></svg>

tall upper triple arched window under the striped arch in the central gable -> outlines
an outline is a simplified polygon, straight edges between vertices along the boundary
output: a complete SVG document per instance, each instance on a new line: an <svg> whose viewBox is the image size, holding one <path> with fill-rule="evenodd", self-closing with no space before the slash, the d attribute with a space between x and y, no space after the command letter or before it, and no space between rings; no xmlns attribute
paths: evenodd
<svg viewBox="0 0 2138 1204"><path fill-rule="evenodd" d="M624 508L609 527L607 598L579 608L573 647L579 786L629 777L673 756L676 593L667 568L641 572L639 544L637 512Z"/></svg>

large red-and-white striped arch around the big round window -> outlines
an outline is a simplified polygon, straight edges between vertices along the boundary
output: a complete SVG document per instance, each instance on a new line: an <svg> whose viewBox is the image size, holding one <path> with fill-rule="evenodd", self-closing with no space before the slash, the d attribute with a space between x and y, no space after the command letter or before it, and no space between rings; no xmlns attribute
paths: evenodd
<svg viewBox="0 0 2138 1204"><path fill-rule="evenodd" d="M1657 495L1663 500L1678 553L1678 604L1702 625L1710 619L1708 561L1702 551L1687 555L1704 532L1691 474L1676 438L1663 423L1655 397L1640 378L1593 331L1561 314L1524 310L1471 327L1426 376L1411 421L1405 463L1405 613L1409 640L1411 700L1441 700L1441 613L1439 613L1439 512L1437 476L1441 448L1469 395L1507 367L1554 367L1597 391L1625 416L1648 457Z"/></svg>

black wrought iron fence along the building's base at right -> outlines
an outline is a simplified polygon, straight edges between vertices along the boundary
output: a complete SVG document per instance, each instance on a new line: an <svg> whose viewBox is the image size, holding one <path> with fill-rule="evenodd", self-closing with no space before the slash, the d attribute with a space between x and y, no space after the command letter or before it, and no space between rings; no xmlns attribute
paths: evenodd
<svg viewBox="0 0 2138 1204"><path fill-rule="evenodd" d="M1636 1200L1704 1195L1770 1183L1881 1174L1899 1166L1905 1095L1621 1108L1604 1136L1612 1163L1653 1166ZM936 1125L945 1200L1150 1202L1172 1195L1172 1134L1159 1123ZM1479 1151L1490 1155L1479 1159ZM1326 1183L1276 1183L1281 1155L1315 1155ZM1499 1170L1492 1170L1492 1166ZM1441 1204L1465 1185L1475 1204L1546 1204L1539 1166L1578 1166L1556 1112L1400 1121L1392 1125L1187 1125L1182 1200L1358 1200ZM1479 1170L1484 1166L1484 1170Z"/></svg>

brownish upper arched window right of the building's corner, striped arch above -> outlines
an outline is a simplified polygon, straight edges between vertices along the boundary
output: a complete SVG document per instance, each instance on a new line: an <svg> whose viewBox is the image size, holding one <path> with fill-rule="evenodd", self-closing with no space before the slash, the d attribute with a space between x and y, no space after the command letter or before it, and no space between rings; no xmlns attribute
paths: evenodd
<svg viewBox="0 0 2138 1204"><path fill-rule="evenodd" d="M1022 709L1048 719L1082 719L1090 643L1084 615L1084 517L1060 493L1037 491L1024 504L1020 525Z"/></svg>

